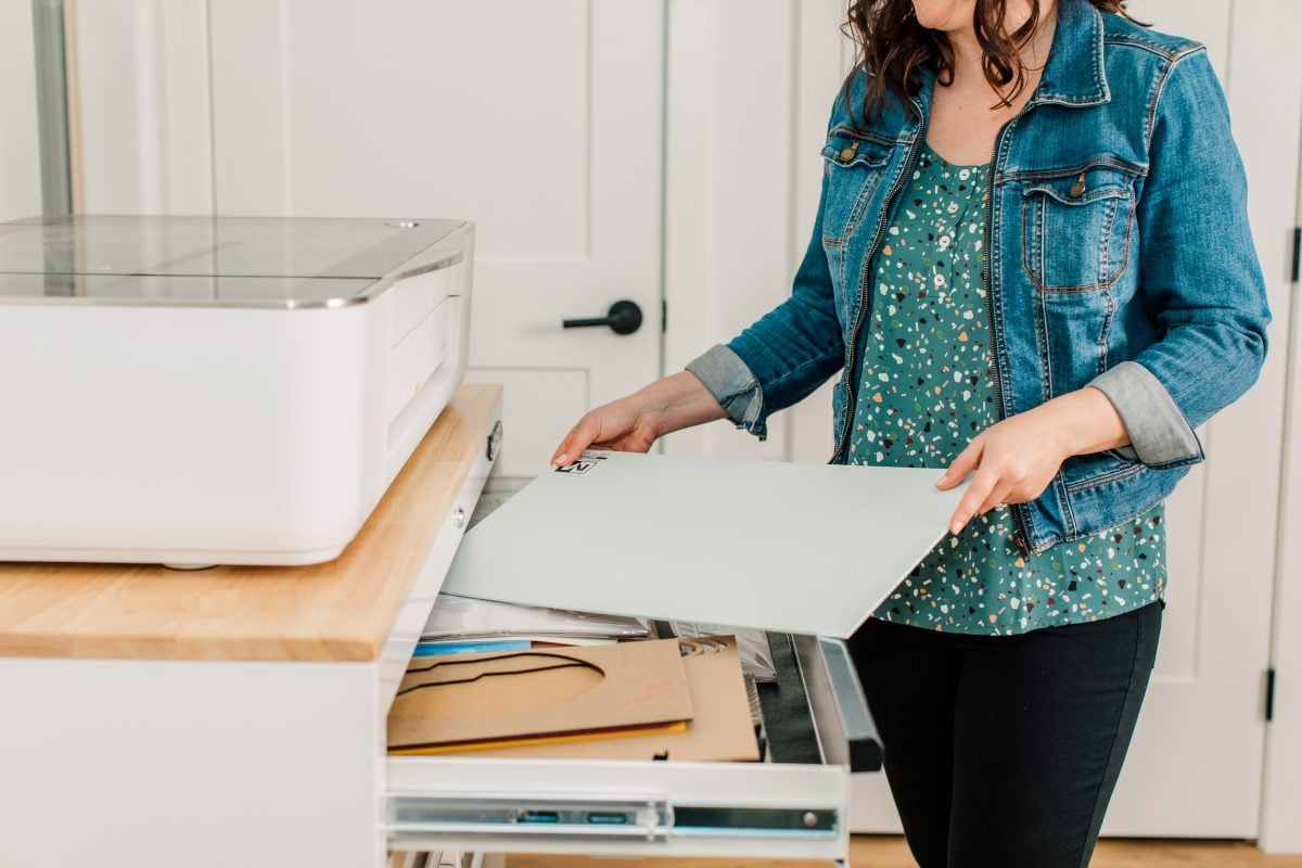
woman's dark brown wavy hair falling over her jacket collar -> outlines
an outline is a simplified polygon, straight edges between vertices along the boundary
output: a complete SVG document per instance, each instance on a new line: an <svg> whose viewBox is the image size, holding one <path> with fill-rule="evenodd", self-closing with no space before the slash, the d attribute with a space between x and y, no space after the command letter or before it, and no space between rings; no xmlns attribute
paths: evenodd
<svg viewBox="0 0 1302 868"><path fill-rule="evenodd" d="M1059 0L1059 3L1090 3L1104 13L1116 13L1134 21L1126 13L1126 0ZM995 105L1010 105L1026 87L1026 66L1018 51L1040 23L1042 0L1031 0L1031 17L1013 33L1005 29L1008 0L976 0L973 25L976 42L984 57L982 70L986 81L1000 94ZM1135 23L1142 23L1135 21ZM1148 26L1148 25L1143 25ZM876 117L893 95L901 103L918 92L922 85L919 70L932 69L936 81L948 85L954 79L954 49L949 38L939 30L928 30L918 23L913 0L852 0L850 13L841 26L854 43L855 65L871 73L863 98L863 120ZM845 82L845 108L854 117L850 105L852 74Z"/></svg>

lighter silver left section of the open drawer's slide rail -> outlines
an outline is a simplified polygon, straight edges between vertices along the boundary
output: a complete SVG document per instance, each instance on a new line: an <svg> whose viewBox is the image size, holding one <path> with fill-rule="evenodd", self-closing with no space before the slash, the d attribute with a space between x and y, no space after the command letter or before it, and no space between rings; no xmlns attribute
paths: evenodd
<svg viewBox="0 0 1302 868"><path fill-rule="evenodd" d="M673 809L663 795L396 795L385 829L391 839L431 835L508 838L637 838L667 841Z"/></svg>

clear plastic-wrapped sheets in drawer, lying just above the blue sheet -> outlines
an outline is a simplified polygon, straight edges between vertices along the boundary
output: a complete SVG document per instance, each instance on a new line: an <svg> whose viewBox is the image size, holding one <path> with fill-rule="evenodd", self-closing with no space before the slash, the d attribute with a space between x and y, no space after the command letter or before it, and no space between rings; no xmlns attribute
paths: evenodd
<svg viewBox="0 0 1302 868"><path fill-rule="evenodd" d="M421 639L423 642L496 636L646 639L651 635L654 635L651 623L642 618L519 606L440 593L421 632Z"/></svg>

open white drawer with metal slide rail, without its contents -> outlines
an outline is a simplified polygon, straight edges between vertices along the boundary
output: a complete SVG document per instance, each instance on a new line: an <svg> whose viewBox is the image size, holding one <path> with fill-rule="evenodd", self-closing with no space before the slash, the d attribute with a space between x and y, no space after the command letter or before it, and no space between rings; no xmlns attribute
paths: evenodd
<svg viewBox="0 0 1302 868"><path fill-rule="evenodd" d="M771 635L760 763L391 756L393 850L844 860L849 773L881 752L844 643Z"/></svg>

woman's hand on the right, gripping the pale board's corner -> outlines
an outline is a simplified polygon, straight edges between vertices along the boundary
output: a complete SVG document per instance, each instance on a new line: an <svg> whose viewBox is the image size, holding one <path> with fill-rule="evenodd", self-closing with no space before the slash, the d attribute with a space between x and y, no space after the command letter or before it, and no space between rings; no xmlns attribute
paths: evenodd
<svg viewBox="0 0 1302 868"><path fill-rule="evenodd" d="M1129 442L1112 402L1088 387L1009 416L976 435L936 483L948 491L975 471L949 519L949 532L997 506L1035 500L1072 455Z"/></svg>

